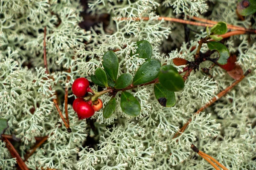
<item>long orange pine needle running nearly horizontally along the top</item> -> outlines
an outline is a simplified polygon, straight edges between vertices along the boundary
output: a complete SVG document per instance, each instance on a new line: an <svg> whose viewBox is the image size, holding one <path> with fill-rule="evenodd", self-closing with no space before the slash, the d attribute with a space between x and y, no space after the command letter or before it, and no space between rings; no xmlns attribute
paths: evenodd
<svg viewBox="0 0 256 170"><path fill-rule="evenodd" d="M141 17L141 18L127 18L127 17L122 17L117 20L149 20L149 17ZM194 25L194 26L203 26L203 27L213 27L215 24L209 24L209 23L198 23L194 21L187 21L187 20L182 20L182 19L177 19L177 18L171 18L171 17L158 17L156 20L165 20L165 21L171 21L171 22L176 22L176 23L183 23L183 24L189 24L189 25ZM246 31L250 33L256 34L256 30L253 29L247 29L247 28L242 28L242 27L237 27L237 26L232 26L232 25L227 25L228 29L233 29L233 30L240 30L240 31Z"/></svg>

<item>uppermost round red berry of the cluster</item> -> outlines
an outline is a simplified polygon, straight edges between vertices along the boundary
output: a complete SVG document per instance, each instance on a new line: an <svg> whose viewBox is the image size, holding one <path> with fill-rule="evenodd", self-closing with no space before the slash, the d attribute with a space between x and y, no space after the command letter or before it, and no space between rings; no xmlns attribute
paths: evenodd
<svg viewBox="0 0 256 170"><path fill-rule="evenodd" d="M78 78L73 82L72 91L77 97L82 97L86 94L89 87L89 81L86 78Z"/></svg>

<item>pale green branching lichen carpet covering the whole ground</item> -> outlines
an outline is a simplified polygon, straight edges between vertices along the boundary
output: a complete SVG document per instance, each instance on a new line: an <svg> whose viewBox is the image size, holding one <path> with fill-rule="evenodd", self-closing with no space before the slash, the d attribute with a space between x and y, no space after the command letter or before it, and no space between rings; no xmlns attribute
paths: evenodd
<svg viewBox="0 0 256 170"><path fill-rule="evenodd" d="M130 56L131 51L136 51L138 40L148 40L153 48L152 58L159 59L162 64L173 65L175 57L192 61L196 51L192 48L206 36L204 28L188 26L192 30L191 40L185 42L183 25L155 20L158 14L204 18L203 13L209 10L212 13L206 17L208 19L255 29L256 23L251 23L255 20L253 16L239 20L236 17L236 0L165 0L163 3L160 0L94 0L88 6L90 14L110 14L109 25L106 27L99 23L87 31L80 28L82 8L78 0L0 2L0 115L9 120L6 134L14 134L21 139L15 147L22 158L36 142L35 136L49 135L47 142L26 162L30 169L212 169L207 161L193 153L190 149L192 143L230 170L256 169L255 35L250 36L250 42L247 41L248 35L236 35L225 42L230 51L237 54L237 63L244 71L252 69L252 74L199 115L193 116L193 113L234 81L217 66L210 71L212 78L201 69L192 72L184 90L176 93L177 103L172 108L160 106L154 97L153 85L130 91L142 107L137 117L122 113L119 94L116 95L117 108L111 118L105 119L100 110L89 125L85 120L79 121L69 105L72 133L67 133L52 103L55 97L52 94L57 91L58 102L64 112L64 87L71 87L78 77L89 78L94 74L96 68L102 67L101 60L106 51L119 48L120 51L116 52L120 61L119 75L134 75L134 70L145 60ZM61 23L56 27L58 17ZM130 20L121 21L121 17ZM150 17L150 20L134 21L133 17ZM45 26L48 67L54 80L47 78L43 68ZM204 45L201 51L207 51L207 46ZM201 67L209 68L210 65L211 62L205 62ZM176 68L181 71L184 66ZM67 75L70 82L67 82ZM52 91L49 91L50 84ZM96 90L98 87L93 85L92 88ZM71 90L69 94L73 96ZM110 96L105 94L101 99L106 105ZM180 125L190 117L192 122L177 138L178 142L172 139ZM92 139L94 143L87 145L86 142ZM2 141L0 169L16 169L15 159Z"/></svg>

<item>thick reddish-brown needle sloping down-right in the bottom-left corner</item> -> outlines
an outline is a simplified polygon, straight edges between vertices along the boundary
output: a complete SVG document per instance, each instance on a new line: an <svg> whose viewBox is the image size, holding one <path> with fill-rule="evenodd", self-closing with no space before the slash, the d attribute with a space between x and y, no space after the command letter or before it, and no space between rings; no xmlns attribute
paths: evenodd
<svg viewBox="0 0 256 170"><path fill-rule="evenodd" d="M21 159L19 153L15 149L15 147L12 145L12 143L7 139L4 138L4 141L6 142L6 147L10 151L12 157L16 158L17 164L20 167L21 170L29 170L29 168L26 166L26 164Z"/></svg>

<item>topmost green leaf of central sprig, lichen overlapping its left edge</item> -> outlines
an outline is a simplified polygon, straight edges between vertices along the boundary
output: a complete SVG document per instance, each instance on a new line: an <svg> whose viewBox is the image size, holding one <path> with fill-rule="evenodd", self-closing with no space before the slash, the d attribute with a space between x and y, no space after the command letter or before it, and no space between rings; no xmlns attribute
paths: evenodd
<svg viewBox="0 0 256 170"><path fill-rule="evenodd" d="M151 56L152 56L151 44L146 40L138 41L136 44L138 48L135 54L139 54L138 55L139 58L151 59Z"/></svg>

